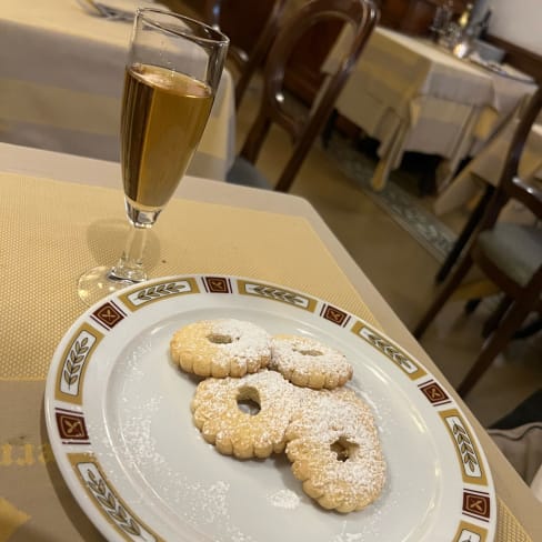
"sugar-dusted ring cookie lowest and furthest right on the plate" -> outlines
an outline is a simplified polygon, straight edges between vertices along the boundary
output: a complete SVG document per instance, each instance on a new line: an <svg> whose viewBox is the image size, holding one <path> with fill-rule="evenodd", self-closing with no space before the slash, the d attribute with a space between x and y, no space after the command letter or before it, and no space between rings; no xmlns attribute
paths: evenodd
<svg viewBox="0 0 542 542"><path fill-rule="evenodd" d="M370 408L348 388L303 391L285 435L293 475L324 509L364 509L385 484L385 460Z"/></svg>

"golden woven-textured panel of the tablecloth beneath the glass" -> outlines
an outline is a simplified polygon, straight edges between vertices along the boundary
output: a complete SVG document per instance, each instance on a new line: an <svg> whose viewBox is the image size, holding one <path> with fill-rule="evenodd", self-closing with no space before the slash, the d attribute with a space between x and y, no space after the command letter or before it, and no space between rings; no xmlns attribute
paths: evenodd
<svg viewBox="0 0 542 542"><path fill-rule="evenodd" d="M46 378L56 345L86 310L78 278L114 263L127 232L120 190L0 175L0 265L10 268L0 295L12 300L12 310L0 313L0 379ZM172 200L149 232L145 261L151 278L250 277L330 300L377 324L303 218Z"/></svg>

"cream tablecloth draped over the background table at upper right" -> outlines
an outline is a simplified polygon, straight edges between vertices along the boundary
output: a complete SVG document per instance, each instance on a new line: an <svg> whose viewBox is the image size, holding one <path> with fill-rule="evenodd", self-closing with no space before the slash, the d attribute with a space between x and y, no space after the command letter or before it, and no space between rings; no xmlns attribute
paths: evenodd
<svg viewBox="0 0 542 542"><path fill-rule="evenodd" d="M323 70L335 69L343 33ZM382 189L405 151L444 159L439 184L535 84L498 76L436 46L378 27L341 92L338 111L380 141L373 187Z"/></svg>

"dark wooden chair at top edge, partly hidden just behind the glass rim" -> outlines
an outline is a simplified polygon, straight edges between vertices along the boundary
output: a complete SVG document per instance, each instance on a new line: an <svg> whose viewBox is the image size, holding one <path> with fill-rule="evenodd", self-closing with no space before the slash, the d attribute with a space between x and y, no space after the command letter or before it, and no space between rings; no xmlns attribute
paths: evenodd
<svg viewBox="0 0 542 542"><path fill-rule="evenodd" d="M242 40L244 42L241 43L241 40L238 39L240 32L234 28L237 21L231 21L227 14L228 0L204 0L203 2L202 14L204 20L230 37L228 58L239 71L235 83L237 107L241 103L250 80L263 64L265 54L279 29L285 4L287 0L258 0L257 13L253 18L255 20L251 19L250 21L250 33L257 33L258 38L253 43L248 43L247 40Z"/></svg>

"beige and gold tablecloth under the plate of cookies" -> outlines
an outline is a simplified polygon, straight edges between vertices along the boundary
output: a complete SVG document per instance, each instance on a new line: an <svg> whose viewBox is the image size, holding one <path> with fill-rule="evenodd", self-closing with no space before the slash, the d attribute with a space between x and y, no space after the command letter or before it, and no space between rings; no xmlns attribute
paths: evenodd
<svg viewBox="0 0 542 542"><path fill-rule="evenodd" d="M122 248L122 194L84 184L117 185L111 165L46 154L41 163L56 167L59 179L73 175L82 183L0 173L0 542L101 540L63 482L40 412L52 352L86 309L77 279L97 262L113 261ZM27 158L36 168L42 154L0 148L0 158L10 168ZM172 200L152 232L151 275L244 274L302 290L383 329L445 382L307 202L198 179L185 179L182 191L188 199ZM538 540L533 518L541 506L462 406L495 479L495 540Z"/></svg>

